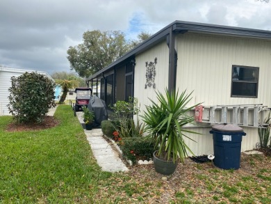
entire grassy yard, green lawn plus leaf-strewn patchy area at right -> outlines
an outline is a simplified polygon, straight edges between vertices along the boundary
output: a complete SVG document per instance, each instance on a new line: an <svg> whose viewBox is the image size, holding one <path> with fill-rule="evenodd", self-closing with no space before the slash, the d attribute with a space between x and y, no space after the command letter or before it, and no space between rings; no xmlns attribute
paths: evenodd
<svg viewBox="0 0 271 204"><path fill-rule="evenodd" d="M246 156L237 171L186 159L167 181L152 165L101 171L69 105L57 127L6 132L0 117L0 203L271 203L271 159Z"/></svg>

